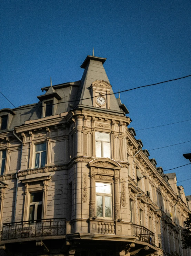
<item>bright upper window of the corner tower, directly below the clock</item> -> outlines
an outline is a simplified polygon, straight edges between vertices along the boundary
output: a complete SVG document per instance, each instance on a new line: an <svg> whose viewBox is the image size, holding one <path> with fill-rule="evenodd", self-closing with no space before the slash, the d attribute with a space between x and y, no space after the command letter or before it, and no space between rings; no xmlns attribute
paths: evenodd
<svg viewBox="0 0 191 256"><path fill-rule="evenodd" d="M96 157L110 158L110 134L96 132Z"/></svg>

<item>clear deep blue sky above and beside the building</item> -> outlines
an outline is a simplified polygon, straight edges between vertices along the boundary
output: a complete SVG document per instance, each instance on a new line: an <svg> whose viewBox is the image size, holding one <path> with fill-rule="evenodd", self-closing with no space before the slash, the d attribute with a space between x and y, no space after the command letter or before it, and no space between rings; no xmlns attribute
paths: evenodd
<svg viewBox="0 0 191 256"><path fill-rule="evenodd" d="M114 91L191 74L188 0L2 0L0 89L15 105L38 102L41 87L81 79L92 47ZM191 78L124 92L135 130L191 119ZM0 108L11 104L0 95ZM144 148L191 140L191 121L137 131ZM189 163L191 142L150 151L158 166ZM172 170L171 172L174 172ZM191 165L175 170L191 178ZM191 194L191 180L178 183Z"/></svg>

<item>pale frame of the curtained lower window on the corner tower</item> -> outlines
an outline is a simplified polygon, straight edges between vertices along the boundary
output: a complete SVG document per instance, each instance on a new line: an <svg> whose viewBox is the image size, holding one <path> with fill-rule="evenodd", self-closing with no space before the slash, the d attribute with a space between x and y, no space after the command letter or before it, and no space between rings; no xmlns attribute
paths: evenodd
<svg viewBox="0 0 191 256"><path fill-rule="evenodd" d="M103 216L97 216L98 218L103 218L103 219L107 219L107 220L113 220L113 189L112 189L112 183L106 183L106 182L100 182L100 181L96 181L96 183L102 183L102 184L108 184L111 186L111 193L99 193L96 192L95 194L95 201L96 201L96 216L97 216L97 196L102 196L103 201L102 201L102 212L103 212ZM96 184L95 183L95 184ZM96 186L96 185L95 185ZM105 196L111 197L111 217L105 217Z"/></svg>

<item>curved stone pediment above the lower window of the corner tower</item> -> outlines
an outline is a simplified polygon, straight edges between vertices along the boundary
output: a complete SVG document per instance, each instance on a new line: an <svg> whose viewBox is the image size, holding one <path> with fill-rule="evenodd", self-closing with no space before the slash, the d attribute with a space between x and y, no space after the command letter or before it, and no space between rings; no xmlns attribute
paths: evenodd
<svg viewBox="0 0 191 256"><path fill-rule="evenodd" d="M110 158L97 158L89 162L90 167L110 168L110 169L121 169L122 166L118 162Z"/></svg>

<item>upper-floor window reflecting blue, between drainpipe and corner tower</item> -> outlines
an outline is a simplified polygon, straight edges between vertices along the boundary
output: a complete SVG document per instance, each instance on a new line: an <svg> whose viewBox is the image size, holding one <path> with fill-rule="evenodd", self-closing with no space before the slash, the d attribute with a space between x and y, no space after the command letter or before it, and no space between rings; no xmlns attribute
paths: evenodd
<svg viewBox="0 0 191 256"><path fill-rule="evenodd" d="M35 165L34 168L43 167L46 164L47 143L35 145Z"/></svg>

